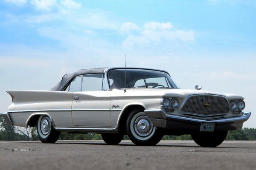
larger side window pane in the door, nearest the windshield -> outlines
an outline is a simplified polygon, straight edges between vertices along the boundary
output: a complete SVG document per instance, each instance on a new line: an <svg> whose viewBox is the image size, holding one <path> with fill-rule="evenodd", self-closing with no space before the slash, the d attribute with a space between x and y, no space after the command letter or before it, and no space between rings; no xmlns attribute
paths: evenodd
<svg viewBox="0 0 256 170"><path fill-rule="evenodd" d="M102 91L103 74L83 75L82 91Z"/></svg>

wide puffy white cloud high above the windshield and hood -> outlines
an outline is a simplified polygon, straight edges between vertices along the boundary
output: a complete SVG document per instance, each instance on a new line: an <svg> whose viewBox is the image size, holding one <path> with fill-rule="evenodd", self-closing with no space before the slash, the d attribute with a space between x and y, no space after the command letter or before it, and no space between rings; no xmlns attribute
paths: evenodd
<svg viewBox="0 0 256 170"><path fill-rule="evenodd" d="M141 35L129 35L122 43L123 48L133 48L136 45L144 46L165 41L182 41L193 42L195 40L195 33L192 30L172 31L172 23L145 23L145 30Z"/></svg>

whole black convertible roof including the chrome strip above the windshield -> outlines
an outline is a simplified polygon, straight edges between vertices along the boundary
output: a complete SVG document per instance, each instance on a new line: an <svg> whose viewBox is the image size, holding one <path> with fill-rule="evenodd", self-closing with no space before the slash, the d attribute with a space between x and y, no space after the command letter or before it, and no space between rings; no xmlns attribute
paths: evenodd
<svg viewBox="0 0 256 170"><path fill-rule="evenodd" d="M122 67L112 67L112 68L89 68L89 69L81 69L71 74L65 74L61 81L58 82L57 85L55 85L51 91L62 91L63 88L67 85L68 82L70 82L73 77L84 75L84 74L100 74L105 73L106 71L112 70L112 69L124 69ZM157 69L150 69L150 68L127 68L127 69L146 69L146 70L155 70L155 71L163 71L163 70L157 70ZM166 72L166 71L164 71ZM168 73L168 72L166 72Z"/></svg>

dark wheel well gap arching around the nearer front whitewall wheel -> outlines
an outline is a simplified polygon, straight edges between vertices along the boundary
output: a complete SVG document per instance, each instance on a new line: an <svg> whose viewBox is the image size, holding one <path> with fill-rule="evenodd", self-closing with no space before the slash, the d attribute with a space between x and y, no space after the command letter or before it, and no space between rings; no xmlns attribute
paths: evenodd
<svg viewBox="0 0 256 170"><path fill-rule="evenodd" d="M125 108L125 110L123 111L123 113L121 115L119 124L118 124L119 132L126 134L126 121L127 121L129 114L134 109L144 109L145 110L145 108L141 105L131 105L131 106L128 106L127 108Z"/></svg>

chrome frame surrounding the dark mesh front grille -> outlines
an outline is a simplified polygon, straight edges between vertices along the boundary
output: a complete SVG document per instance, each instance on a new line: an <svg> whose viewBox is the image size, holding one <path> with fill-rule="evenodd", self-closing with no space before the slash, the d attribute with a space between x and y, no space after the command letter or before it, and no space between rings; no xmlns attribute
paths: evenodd
<svg viewBox="0 0 256 170"><path fill-rule="evenodd" d="M192 95L190 95L190 96L187 96L186 100L183 102L182 106L180 107L180 112L183 113L184 115L199 116L199 117L212 117L212 116L222 116L222 115L226 115L226 114L229 113L229 112L228 112L228 113L221 113L221 114L215 114L215 115L208 115L208 116L206 116L206 115L201 115L201 114L196 114L196 113L187 113L187 112L184 112L184 111L183 111L184 105L185 105L186 102L187 102L191 97L193 97L193 96L220 96L220 97L223 97L223 98L225 98L225 99L227 100L227 103L228 103L228 105L229 105L229 107L230 107L230 103L228 102L228 99L227 99L226 96L221 96L221 95L217 95L217 94L192 94Z"/></svg>

